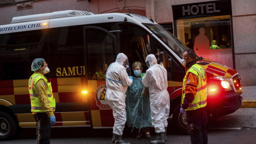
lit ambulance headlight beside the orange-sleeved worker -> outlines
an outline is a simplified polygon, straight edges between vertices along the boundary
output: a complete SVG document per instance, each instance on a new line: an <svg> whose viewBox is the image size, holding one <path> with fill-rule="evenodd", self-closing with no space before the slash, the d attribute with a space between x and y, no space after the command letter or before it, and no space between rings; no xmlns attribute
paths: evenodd
<svg viewBox="0 0 256 144"><path fill-rule="evenodd" d="M212 82L221 89L224 89L225 91L233 90L230 80L227 77L224 76L216 76L210 78Z"/></svg>

